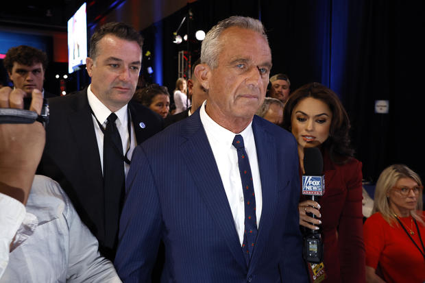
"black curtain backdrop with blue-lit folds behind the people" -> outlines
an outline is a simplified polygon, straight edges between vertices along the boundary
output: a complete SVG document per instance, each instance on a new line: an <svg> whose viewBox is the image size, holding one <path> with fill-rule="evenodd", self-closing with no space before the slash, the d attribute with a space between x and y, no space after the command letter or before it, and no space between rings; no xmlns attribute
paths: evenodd
<svg viewBox="0 0 425 283"><path fill-rule="evenodd" d="M66 10L55 25L63 29L65 21L66 31L66 20L82 1L58 2ZM88 6L88 30L93 32L103 23L102 16L121 2L125 1L93 1L95 4ZM207 32L228 16L252 16L263 21L267 29L274 64L271 75L289 75L291 90L308 82L320 82L335 90L350 116L352 143L356 158L363 162L365 180L376 181L380 171L394 163L406 164L425 177L421 165L425 154L419 142L425 121L423 1L199 0L188 3L141 30L145 37L143 51L151 51L151 56L143 58L143 79L165 85L170 92L178 78L178 51L188 50L186 42L172 43L173 32L189 9L193 19L182 25L182 36L188 31L188 23L189 34L194 34L197 29ZM199 57L200 42L193 36L189 50L194 62ZM151 75L146 72L148 66L154 67ZM66 63L52 63L49 68L47 72L53 75L56 69L66 70ZM66 87L77 90L88 82L82 69L70 75ZM47 78L46 83L51 92L58 88L54 79ZM374 112L376 100L389 101L389 114Z"/></svg>

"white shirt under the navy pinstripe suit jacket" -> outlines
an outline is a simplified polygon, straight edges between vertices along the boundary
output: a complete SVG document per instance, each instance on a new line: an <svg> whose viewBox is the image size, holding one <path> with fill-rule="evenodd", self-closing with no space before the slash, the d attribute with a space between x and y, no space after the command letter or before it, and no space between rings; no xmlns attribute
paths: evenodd
<svg viewBox="0 0 425 283"><path fill-rule="evenodd" d="M242 180L239 173L238 155L236 148L232 145L233 132L221 127L208 116L205 111L206 101L202 103L199 115L202 125L210 143L217 167L219 169L221 182L228 197L230 209L232 210L234 225L239 235L241 245L243 243L243 232L245 230L245 204L243 202ZM258 167L257 151L254 134L252 132L252 122L241 133L245 151L250 160L252 172L252 182L254 184L254 194L256 203L257 227L260 227L261 208L263 207L263 195L261 194L260 169Z"/></svg>

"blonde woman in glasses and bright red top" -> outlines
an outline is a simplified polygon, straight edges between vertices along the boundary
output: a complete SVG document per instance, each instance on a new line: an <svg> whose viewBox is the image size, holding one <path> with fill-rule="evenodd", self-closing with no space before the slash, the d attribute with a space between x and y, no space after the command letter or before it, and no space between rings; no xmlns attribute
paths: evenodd
<svg viewBox="0 0 425 283"><path fill-rule="evenodd" d="M425 282L423 188L406 165L380 174L364 225L367 282Z"/></svg>

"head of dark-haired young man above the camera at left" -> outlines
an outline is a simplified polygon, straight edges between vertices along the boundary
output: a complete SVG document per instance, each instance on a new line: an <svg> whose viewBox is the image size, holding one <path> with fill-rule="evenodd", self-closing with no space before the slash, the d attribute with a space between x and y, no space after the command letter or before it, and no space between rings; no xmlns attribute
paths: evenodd
<svg viewBox="0 0 425 283"><path fill-rule="evenodd" d="M47 55L40 49L27 45L12 47L6 53L3 64L14 88L21 88L27 97L31 97L32 90L38 89L43 97L56 97L45 92L42 87L45 81Z"/></svg>

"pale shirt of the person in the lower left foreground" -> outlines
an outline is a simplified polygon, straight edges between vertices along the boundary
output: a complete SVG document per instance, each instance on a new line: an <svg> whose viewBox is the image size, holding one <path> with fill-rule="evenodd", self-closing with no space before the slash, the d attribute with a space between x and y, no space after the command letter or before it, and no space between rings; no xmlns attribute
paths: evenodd
<svg viewBox="0 0 425 283"><path fill-rule="evenodd" d="M49 177L34 177L26 206L0 193L0 283L121 282L98 248Z"/></svg>

